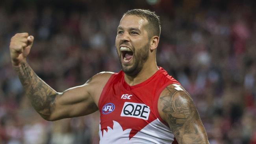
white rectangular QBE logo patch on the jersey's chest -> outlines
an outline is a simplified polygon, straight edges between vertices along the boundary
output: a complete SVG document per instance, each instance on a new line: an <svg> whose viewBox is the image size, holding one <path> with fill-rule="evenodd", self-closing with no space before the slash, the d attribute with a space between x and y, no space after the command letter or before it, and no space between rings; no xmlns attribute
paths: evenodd
<svg viewBox="0 0 256 144"><path fill-rule="evenodd" d="M121 116L128 116L148 120L149 113L150 109L145 104L125 102L124 106L122 107Z"/></svg>

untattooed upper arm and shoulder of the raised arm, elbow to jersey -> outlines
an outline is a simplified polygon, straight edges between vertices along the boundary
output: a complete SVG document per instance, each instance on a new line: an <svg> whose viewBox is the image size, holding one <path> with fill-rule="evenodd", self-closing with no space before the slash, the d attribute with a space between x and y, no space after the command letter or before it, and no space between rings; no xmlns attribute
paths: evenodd
<svg viewBox="0 0 256 144"><path fill-rule="evenodd" d="M59 93L53 101L50 120L84 116L97 111L100 94L112 74L100 72L84 85Z"/></svg>

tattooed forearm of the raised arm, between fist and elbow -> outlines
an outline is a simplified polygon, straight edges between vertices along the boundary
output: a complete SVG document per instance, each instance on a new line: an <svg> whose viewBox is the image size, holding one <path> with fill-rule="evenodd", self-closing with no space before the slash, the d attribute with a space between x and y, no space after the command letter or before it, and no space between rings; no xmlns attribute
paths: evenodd
<svg viewBox="0 0 256 144"><path fill-rule="evenodd" d="M43 118L47 119L54 109L54 100L58 92L40 79L27 63L14 68L32 106Z"/></svg>

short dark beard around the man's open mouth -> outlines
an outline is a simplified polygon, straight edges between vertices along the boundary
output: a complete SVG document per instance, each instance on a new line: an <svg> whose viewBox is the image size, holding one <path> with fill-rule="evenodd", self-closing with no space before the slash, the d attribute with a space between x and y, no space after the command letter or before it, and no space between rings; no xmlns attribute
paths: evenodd
<svg viewBox="0 0 256 144"><path fill-rule="evenodd" d="M130 68L122 65L122 56L121 54L119 54L119 62L121 64L122 71L128 76L137 76L137 74L139 74L139 72L142 70L145 62L148 60L148 48L149 42L139 50L134 50L134 54L132 57L134 60L134 64Z"/></svg>

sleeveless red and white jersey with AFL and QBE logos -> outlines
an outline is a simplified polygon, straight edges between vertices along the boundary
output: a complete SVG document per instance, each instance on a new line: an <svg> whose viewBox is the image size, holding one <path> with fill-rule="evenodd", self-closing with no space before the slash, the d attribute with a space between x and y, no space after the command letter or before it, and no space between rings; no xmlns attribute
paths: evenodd
<svg viewBox="0 0 256 144"><path fill-rule="evenodd" d="M171 144L174 135L158 113L158 98L171 84L180 85L161 67L134 86L123 71L113 74L98 103L100 144Z"/></svg>

